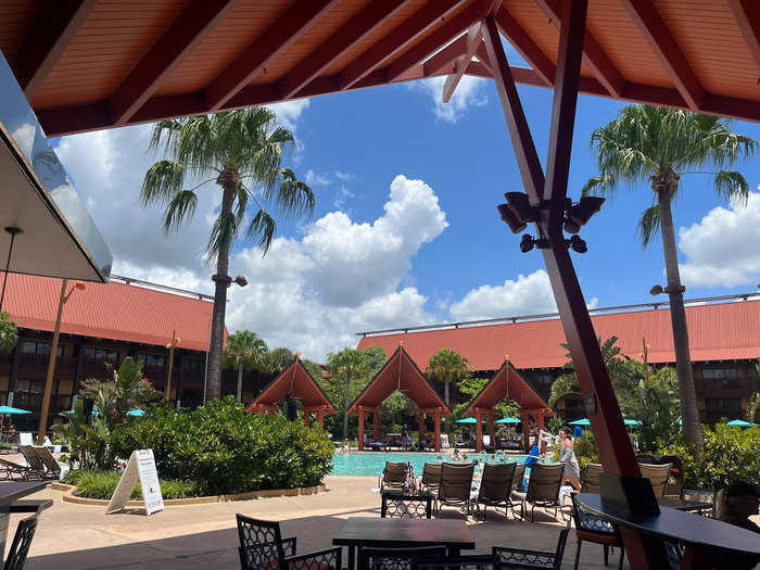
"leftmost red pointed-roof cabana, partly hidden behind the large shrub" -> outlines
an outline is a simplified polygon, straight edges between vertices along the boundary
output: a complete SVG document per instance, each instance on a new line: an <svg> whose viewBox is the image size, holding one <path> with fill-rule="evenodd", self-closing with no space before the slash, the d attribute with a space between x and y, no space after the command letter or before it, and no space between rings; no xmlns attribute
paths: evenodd
<svg viewBox="0 0 760 570"><path fill-rule="evenodd" d="M306 367L296 354L292 364L282 370L280 376L267 384L264 391L248 407L246 411L274 414L278 402L282 402L288 394L301 402L304 414L304 422L308 426L311 415L314 414L320 426L325 425L325 414L334 414L335 408L330 403L322 389L308 373Z"/></svg>

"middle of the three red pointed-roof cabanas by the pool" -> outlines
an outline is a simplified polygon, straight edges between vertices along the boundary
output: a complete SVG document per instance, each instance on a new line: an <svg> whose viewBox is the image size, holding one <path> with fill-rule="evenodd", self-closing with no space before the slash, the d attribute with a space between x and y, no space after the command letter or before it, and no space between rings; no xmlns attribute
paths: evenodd
<svg viewBox="0 0 760 570"><path fill-rule="evenodd" d="M434 446L441 451L441 417L451 416L452 410L425 378L425 375L411 359L403 345L385 360L380 371L349 407L347 413L359 417L359 449L364 448L364 421L367 414L372 414L372 436L377 441L380 428L382 404L393 392L403 392L417 404L417 425L420 436L425 433L425 416L433 418L435 425Z"/></svg>

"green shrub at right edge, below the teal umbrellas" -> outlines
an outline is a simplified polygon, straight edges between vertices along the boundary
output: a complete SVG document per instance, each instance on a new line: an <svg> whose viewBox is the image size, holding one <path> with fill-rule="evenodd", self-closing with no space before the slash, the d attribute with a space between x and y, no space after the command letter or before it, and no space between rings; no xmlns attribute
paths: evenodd
<svg viewBox="0 0 760 570"><path fill-rule="evenodd" d="M676 455L683 464L684 485L721 489L742 480L760 484L760 428L730 428L723 423L702 429L705 456L695 461L692 446L680 442L660 449Z"/></svg>

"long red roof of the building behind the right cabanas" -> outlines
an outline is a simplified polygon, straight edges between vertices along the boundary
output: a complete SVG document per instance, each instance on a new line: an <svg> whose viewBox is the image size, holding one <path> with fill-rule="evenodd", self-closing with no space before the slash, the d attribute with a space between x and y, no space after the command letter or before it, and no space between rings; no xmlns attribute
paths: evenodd
<svg viewBox="0 0 760 570"><path fill-rule="evenodd" d="M687 306L686 318L694 362L760 357L760 302ZM669 309L594 315L592 321L598 337L618 337L618 346L631 357L641 358L646 339L649 362L675 362ZM391 354L400 341L422 369L441 349L463 354L476 370L495 370L505 356L519 369L555 368L567 362L567 351L559 345L565 342L559 319L365 337L358 349L377 345Z"/></svg>

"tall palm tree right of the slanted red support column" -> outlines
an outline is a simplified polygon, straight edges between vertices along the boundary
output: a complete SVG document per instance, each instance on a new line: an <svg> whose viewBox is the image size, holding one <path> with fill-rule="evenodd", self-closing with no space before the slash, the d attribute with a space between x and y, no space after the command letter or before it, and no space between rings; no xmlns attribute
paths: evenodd
<svg viewBox="0 0 760 570"><path fill-rule="evenodd" d="M591 142L596 147L599 176L586 182L584 194L610 194L620 181L647 181L651 186L654 203L638 220L638 235L644 248L658 230L662 237L684 439L701 456L702 438L671 203L681 188L681 177L687 174L713 175L720 198L746 201L747 180L740 173L724 168L740 157L751 156L757 143L732 132L725 118L643 105L624 106L618 118L594 130Z"/></svg>

